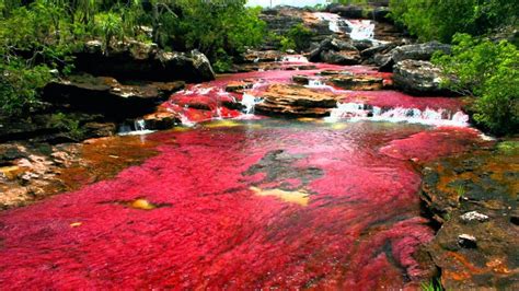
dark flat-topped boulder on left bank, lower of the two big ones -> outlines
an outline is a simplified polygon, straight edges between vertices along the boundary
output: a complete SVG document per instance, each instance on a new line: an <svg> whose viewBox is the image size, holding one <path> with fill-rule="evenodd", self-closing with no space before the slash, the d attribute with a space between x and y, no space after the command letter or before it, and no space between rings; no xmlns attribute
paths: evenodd
<svg viewBox="0 0 519 291"><path fill-rule="evenodd" d="M109 77L78 74L47 84L43 97L69 109L125 119L153 112L161 101L182 88L182 81L124 85Z"/></svg>

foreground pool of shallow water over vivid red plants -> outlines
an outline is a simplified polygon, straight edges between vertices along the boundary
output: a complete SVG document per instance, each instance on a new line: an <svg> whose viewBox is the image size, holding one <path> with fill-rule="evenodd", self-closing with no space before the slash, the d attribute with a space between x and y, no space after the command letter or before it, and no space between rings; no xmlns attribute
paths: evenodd
<svg viewBox="0 0 519 291"><path fill-rule="evenodd" d="M0 213L5 289L402 288L432 237L414 162L470 128L220 120L116 178Z"/></svg>

